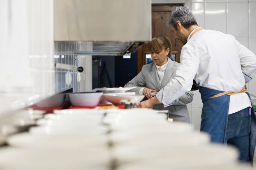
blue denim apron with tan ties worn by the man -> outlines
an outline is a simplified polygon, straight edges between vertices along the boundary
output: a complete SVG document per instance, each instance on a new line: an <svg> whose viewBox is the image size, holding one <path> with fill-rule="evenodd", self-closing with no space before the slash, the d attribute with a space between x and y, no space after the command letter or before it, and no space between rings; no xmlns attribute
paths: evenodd
<svg viewBox="0 0 256 170"><path fill-rule="evenodd" d="M215 143L225 143L226 126L228 122L229 95L223 95L210 99L212 96L222 93L223 91L209 89L194 84L201 94L203 102L201 131L207 132L211 136L211 141ZM246 87L245 87L246 88ZM249 98L249 93L246 93ZM256 115L252 108L251 114L251 134L250 134L250 158L253 162L255 142L256 142Z"/></svg>

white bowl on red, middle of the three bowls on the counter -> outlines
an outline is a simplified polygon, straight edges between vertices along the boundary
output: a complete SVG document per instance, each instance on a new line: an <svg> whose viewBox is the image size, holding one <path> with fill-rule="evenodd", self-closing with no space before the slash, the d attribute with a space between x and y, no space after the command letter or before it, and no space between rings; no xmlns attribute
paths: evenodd
<svg viewBox="0 0 256 170"><path fill-rule="evenodd" d="M69 99L73 106L96 106L101 101L103 93L69 93Z"/></svg>

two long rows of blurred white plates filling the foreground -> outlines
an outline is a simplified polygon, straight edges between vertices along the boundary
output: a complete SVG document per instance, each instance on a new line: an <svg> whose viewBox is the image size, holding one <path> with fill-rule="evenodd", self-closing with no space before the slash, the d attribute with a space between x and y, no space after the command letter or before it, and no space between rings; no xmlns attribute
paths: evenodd
<svg viewBox="0 0 256 170"><path fill-rule="evenodd" d="M169 123L151 109L54 113L29 133L7 138L15 148L2 149L1 169L239 170L236 149L212 145L191 124Z"/></svg>

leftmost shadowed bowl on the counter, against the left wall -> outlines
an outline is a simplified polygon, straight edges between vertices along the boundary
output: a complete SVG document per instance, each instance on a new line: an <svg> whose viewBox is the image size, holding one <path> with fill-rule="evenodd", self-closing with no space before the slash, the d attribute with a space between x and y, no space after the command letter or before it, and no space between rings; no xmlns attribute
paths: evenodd
<svg viewBox="0 0 256 170"><path fill-rule="evenodd" d="M61 107L64 103L66 94L57 94L41 102L36 103L36 107Z"/></svg>

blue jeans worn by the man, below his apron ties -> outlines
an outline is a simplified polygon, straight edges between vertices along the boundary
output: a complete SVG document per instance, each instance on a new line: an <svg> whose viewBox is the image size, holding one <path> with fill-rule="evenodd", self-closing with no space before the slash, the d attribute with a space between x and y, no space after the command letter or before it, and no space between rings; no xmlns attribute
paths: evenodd
<svg viewBox="0 0 256 170"><path fill-rule="evenodd" d="M239 159L241 162L248 162L250 160L250 131L251 115L249 115L249 108L245 108L228 116L225 144L234 145L239 149Z"/></svg>

